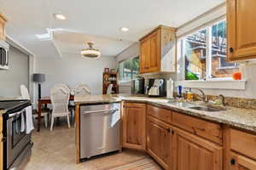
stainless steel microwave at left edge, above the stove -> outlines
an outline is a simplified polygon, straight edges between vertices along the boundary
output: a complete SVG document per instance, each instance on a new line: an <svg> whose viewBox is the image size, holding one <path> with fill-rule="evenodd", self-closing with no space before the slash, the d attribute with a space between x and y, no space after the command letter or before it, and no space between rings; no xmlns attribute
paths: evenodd
<svg viewBox="0 0 256 170"><path fill-rule="evenodd" d="M0 69L9 69L9 44L0 41Z"/></svg>

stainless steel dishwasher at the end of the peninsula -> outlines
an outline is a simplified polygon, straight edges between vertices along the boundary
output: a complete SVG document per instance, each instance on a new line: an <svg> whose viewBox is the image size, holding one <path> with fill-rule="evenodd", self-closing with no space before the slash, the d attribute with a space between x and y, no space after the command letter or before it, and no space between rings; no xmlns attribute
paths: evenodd
<svg viewBox="0 0 256 170"><path fill-rule="evenodd" d="M80 159L119 150L120 103L81 105Z"/></svg>

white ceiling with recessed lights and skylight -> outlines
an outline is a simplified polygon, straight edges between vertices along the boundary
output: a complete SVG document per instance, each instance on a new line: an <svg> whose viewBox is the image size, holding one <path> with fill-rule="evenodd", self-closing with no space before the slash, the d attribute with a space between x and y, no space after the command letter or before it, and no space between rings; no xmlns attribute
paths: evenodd
<svg viewBox="0 0 256 170"><path fill-rule="evenodd" d="M0 0L7 34L39 57L79 54L88 41L102 56L115 56L156 26L178 27L224 0ZM67 20L55 20L61 13ZM130 30L122 32L120 27ZM55 29L40 41L36 34ZM121 41L120 41L121 40Z"/></svg>

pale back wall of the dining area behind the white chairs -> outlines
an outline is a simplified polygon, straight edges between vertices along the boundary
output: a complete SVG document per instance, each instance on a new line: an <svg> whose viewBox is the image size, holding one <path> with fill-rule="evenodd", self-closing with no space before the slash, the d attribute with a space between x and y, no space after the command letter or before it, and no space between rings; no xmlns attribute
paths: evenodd
<svg viewBox="0 0 256 170"><path fill-rule="evenodd" d="M102 72L106 67L115 68L114 57L87 59L80 54L62 54L61 58L36 59L36 72L46 75L46 82L42 84L42 96L49 96L50 88L56 83L65 83L70 88L75 88L79 82L86 83L92 94L102 94Z"/></svg>

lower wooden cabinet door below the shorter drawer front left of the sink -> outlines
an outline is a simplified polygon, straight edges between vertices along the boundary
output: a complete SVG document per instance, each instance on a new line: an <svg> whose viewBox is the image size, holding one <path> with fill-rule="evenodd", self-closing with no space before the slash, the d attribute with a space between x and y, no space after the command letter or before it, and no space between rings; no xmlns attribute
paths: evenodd
<svg viewBox="0 0 256 170"><path fill-rule="evenodd" d="M147 149L165 169L172 166L172 129L164 122L154 121L148 116Z"/></svg>

